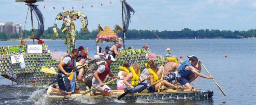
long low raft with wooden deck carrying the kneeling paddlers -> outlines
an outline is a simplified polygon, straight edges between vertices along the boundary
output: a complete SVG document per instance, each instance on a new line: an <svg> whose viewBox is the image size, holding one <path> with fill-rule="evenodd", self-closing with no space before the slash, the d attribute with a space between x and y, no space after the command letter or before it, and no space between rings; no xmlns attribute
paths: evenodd
<svg viewBox="0 0 256 105"><path fill-rule="evenodd" d="M69 99L77 96L82 96L82 93L85 91L81 91L80 93L72 94L71 96L64 96L61 93L52 93L50 96L44 95L48 99ZM101 99L101 98L117 98L120 95L122 95L124 92L123 90L113 90L113 95L111 96L104 96L102 93L96 92L95 96L90 96L90 93L87 95L84 95L88 98L95 98L95 99ZM192 91L185 89L183 91L177 91L168 89L167 92L155 92L155 93L133 93L133 94L127 94L125 97L122 98L122 100L127 99L147 99L147 100L155 100L155 99L211 99L213 96L212 90L197 90L193 89Z"/></svg>

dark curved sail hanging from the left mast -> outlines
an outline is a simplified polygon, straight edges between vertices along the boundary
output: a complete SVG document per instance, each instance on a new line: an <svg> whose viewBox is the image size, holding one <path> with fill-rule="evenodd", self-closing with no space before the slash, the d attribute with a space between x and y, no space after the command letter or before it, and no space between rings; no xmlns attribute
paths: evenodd
<svg viewBox="0 0 256 105"><path fill-rule="evenodd" d="M37 5L35 4L28 4L27 6L30 7L31 10L33 10L33 13L35 14L35 16L37 17L37 21L38 21L38 30L37 30L37 34L34 35L34 39L39 40L40 37L43 35L44 33L44 18L43 18L43 14L41 13L41 11L38 9Z"/></svg>

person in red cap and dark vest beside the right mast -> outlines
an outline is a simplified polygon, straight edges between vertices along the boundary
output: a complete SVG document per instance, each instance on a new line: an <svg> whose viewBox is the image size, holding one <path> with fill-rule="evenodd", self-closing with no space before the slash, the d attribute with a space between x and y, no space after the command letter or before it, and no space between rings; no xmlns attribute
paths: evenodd
<svg viewBox="0 0 256 105"><path fill-rule="evenodd" d="M120 55L120 53L117 52L118 48L121 48L123 46L122 41L117 41L115 44L111 45L107 51L107 54L112 55L114 58L116 58L116 55Z"/></svg>

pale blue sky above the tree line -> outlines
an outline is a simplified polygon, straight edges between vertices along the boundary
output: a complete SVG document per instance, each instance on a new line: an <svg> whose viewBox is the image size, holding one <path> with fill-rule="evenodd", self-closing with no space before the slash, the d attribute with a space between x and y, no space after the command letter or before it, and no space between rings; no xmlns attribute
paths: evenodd
<svg viewBox="0 0 256 105"><path fill-rule="evenodd" d="M0 23L20 23L24 28L28 10L26 3L15 0L0 1ZM136 12L134 15L131 13L128 28L130 30L256 29L256 0L126 0L126 2ZM87 15L89 31L96 30L98 24L102 27L108 25L112 30L115 24L122 26L120 0L44 0L35 4L43 13L44 30L52 27L56 15L64 10L76 10ZM37 28L35 16L33 19L34 28ZM62 22L58 21L59 28ZM76 30L82 28L79 19L75 23ZM25 30L31 30L30 13L27 16Z"/></svg>

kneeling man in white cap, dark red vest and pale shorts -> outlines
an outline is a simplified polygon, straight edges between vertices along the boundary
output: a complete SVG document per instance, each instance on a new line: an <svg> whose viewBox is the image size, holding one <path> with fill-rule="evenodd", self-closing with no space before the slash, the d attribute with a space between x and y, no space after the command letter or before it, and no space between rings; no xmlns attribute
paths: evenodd
<svg viewBox="0 0 256 105"><path fill-rule="evenodd" d="M110 65L114 61L116 61L116 59L114 59L112 55L107 55L106 61L99 64L97 70L93 74L94 77L92 80L92 86L101 86L97 89L97 91L107 96L113 95L113 90L103 83L104 79L107 77L107 75L109 75L111 78L120 78L119 76L112 74L110 70ZM95 92L96 90L91 91L90 95L93 96Z"/></svg>

